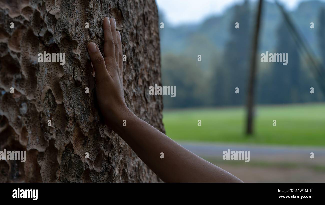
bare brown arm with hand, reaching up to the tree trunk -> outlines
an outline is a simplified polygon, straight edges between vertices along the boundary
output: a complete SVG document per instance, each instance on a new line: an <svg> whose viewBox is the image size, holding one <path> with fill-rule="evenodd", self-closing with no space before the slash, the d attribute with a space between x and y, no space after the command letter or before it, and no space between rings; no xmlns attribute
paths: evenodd
<svg viewBox="0 0 325 205"><path fill-rule="evenodd" d="M242 182L180 146L128 109L123 90L122 39L116 31L115 19L105 18L103 30L105 57L95 43L88 44L88 52L95 68L97 98L106 124L164 182ZM127 126L123 126L123 120Z"/></svg>

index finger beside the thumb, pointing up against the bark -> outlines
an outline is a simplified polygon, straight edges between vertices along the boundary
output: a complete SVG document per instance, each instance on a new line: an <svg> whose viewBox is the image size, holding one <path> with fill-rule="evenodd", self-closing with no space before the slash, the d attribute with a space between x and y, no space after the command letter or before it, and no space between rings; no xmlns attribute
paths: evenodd
<svg viewBox="0 0 325 205"><path fill-rule="evenodd" d="M112 20L112 19L111 19ZM104 55L110 59L115 59L115 45L111 31L110 19L104 18L103 31L104 31Z"/></svg>

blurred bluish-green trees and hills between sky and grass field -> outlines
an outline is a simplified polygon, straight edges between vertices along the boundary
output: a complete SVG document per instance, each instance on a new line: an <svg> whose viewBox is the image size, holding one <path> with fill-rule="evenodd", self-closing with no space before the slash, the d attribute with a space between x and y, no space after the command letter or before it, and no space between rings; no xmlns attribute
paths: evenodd
<svg viewBox="0 0 325 205"><path fill-rule="evenodd" d="M259 104L324 101L305 57L298 52L279 9L265 2L258 52L256 101ZM198 25L170 27L160 22L162 84L176 86L176 97L163 96L165 108L246 104L252 26L256 5L249 1ZM325 65L325 3L303 2L290 12L314 56ZM236 22L239 29L235 28ZM315 29L310 28L314 22ZM260 54L288 53L288 65L261 63ZM198 61L198 55L202 61ZM325 79L324 79L325 81ZM239 94L235 88L239 88ZM310 94L314 87L315 93Z"/></svg>

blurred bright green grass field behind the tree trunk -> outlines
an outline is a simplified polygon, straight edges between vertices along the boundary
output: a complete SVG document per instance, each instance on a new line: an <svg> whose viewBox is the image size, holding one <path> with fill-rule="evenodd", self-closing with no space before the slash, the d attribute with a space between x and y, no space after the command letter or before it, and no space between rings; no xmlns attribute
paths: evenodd
<svg viewBox="0 0 325 205"><path fill-rule="evenodd" d="M253 136L245 135L245 108L167 110L163 122L176 141L325 146L325 104L260 106L256 111Z"/></svg>

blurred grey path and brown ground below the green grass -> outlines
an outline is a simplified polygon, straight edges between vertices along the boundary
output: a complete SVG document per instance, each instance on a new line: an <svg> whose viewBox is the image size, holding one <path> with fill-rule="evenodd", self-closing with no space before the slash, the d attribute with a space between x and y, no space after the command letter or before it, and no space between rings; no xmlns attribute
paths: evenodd
<svg viewBox="0 0 325 205"><path fill-rule="evenodd" d="M178 142L245 182L325 182L325 148ZM250 151L250 162L223 160L223 151ZM310 158L314 152L314 159Z"/></svg>

